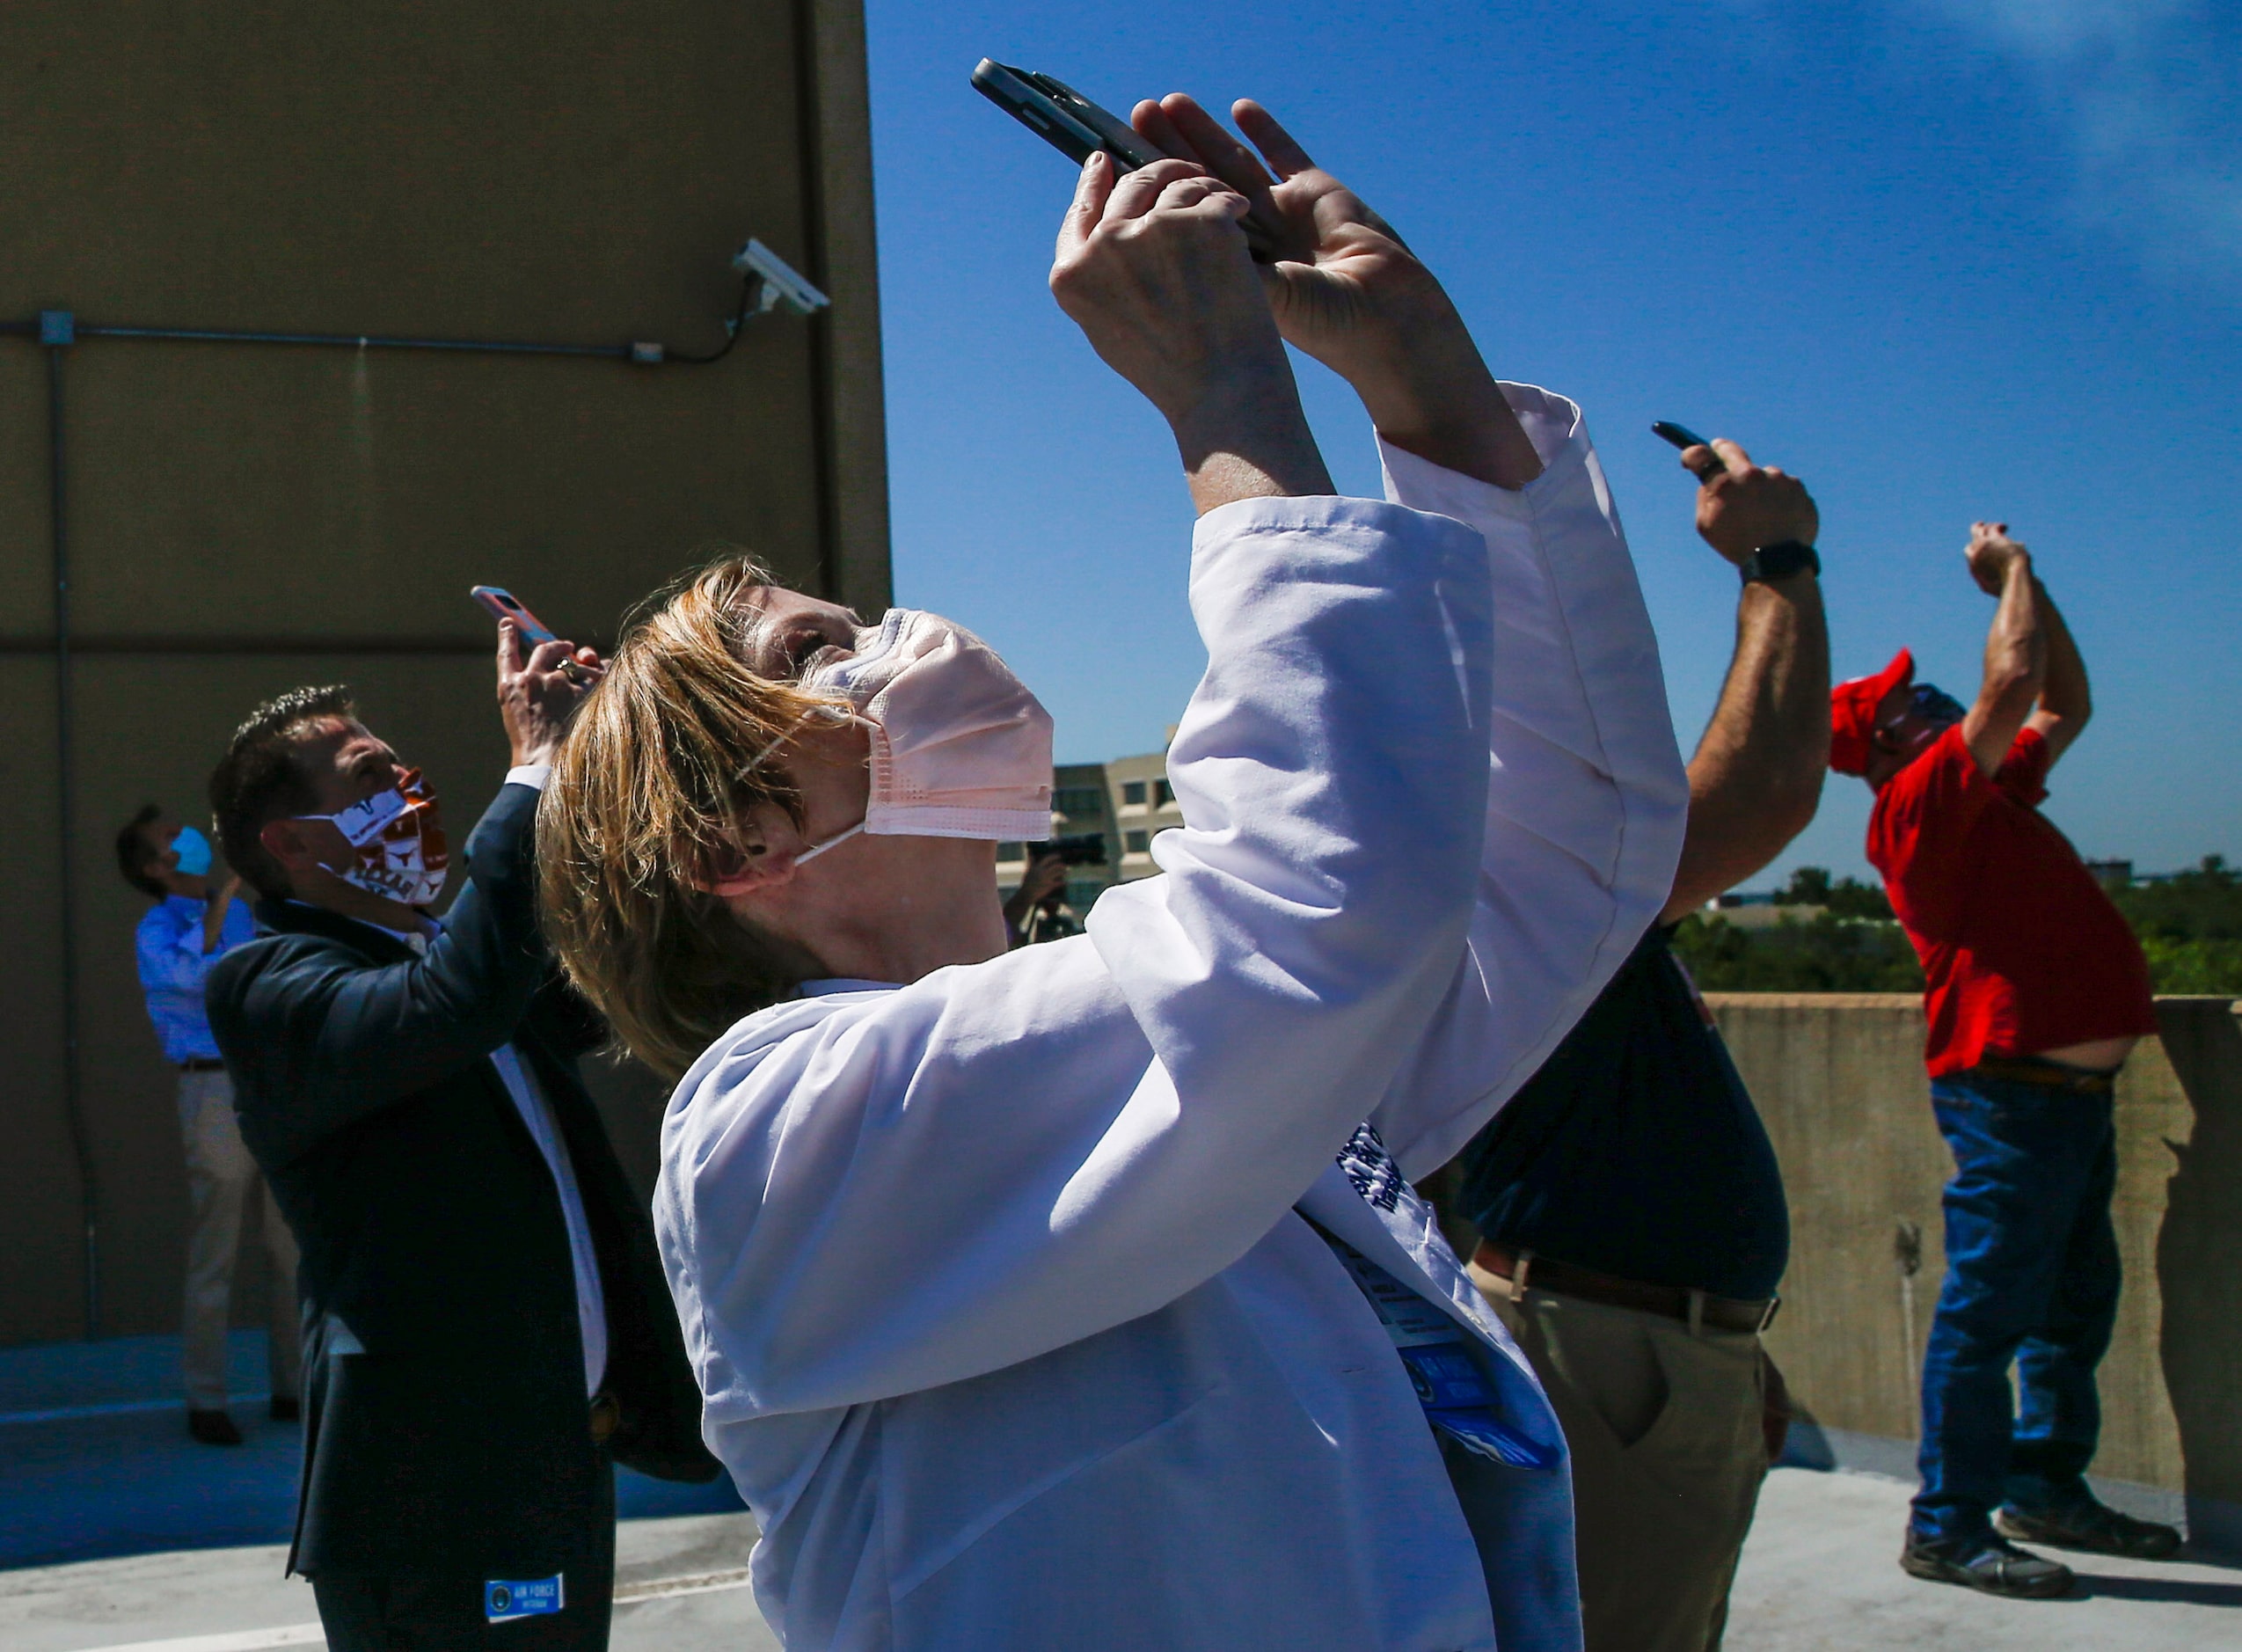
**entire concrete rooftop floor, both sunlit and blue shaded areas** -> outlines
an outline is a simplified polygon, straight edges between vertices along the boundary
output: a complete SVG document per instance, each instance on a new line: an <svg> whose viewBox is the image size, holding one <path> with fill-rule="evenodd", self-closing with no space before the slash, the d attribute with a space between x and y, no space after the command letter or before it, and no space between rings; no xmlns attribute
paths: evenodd
<svg viewBox="0 0 2242 1652"><path fill-rule="evenodd" d="M265 1421L256 1334L238 1334L233 1356L249 1444L213 1450L182 1428L175 1338L0 1352L0 1648L323 1645L309 1585L280 1576L296 1428ZM2083 1578L2069 1600L1919 1583L1897 1565L1908 1491L1778 1468L1738 1574L1731 1652L2242 1648L2242 1567L2065 1556ZM623 1475L619 1504L617 1652L778 1645L747 1587L756 1529L731 1486Z"/></svg>

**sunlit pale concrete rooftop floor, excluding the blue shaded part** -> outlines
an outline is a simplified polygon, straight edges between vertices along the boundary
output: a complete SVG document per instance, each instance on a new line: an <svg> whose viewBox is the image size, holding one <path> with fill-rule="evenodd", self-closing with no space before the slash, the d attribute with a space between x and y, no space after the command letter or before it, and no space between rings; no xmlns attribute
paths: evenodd
<svg viewBox="0 0 2242 1652"><path fill-rule="evenodd" d="M1729 1621L1731 1652L2179 1652L2242 1645L2242 1569L2074 1558L2069 1600L1991 1600L1897 1565L1908 1486L1778 1468L1760 1497ZM747 1515L630 1520L617 1652L767 1652L742 1567ZM9 1652L260 1652L318 1648L312 1589L282 1549L206 1549L0 1571Z"/></svg>

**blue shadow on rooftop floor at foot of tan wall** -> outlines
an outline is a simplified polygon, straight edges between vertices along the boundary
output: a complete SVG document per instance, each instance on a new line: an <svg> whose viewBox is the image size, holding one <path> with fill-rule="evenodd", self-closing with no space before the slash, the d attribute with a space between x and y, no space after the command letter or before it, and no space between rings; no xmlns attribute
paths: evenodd
<svg viewBox="0 0 2242 1652"><path fill-rule="evenodd" d="M231 1354L240 1446L186 1437L177 1338L0 1352L0 1567L287 1542L300 1428L265 1414L262 1331L235 1331ZM623 1520L740 1509L729 1479L619 1470L614 1491Z"/></svg>

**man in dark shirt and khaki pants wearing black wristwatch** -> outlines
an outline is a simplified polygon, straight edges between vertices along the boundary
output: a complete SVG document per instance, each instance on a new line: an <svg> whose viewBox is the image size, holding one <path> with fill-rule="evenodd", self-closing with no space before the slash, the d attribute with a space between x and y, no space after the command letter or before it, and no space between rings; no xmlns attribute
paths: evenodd
<svg viewBox="0 0 2242 1652"><path fill-rule="evenodd" d="M1471 1275L1572 1446L1587 1652L1717 1648L1778 1448L1760 1349L1789 1257L1767 1130L1673 926L1744 881L1821 802L1829 637L1805 486L1695 444L1697 531L1738 567L1735 657L1690 760L1673 894L1578 1027L1473 1141L1455 1204Z"/></svg>

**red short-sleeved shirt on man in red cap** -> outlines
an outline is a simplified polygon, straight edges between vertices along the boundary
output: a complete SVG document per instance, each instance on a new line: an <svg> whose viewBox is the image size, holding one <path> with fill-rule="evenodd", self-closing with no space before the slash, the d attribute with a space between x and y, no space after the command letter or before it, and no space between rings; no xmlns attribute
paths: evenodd
<svg viewBox="0 0 2242 1652"><path fill-rule="evenodd" d="M2132 926L2040 814L2049 762L2025 728L1986 780L1955 724L1868 816L1868 859L1928 977L1933 1078L1982 1056L2157 1031Z"/></svg>

